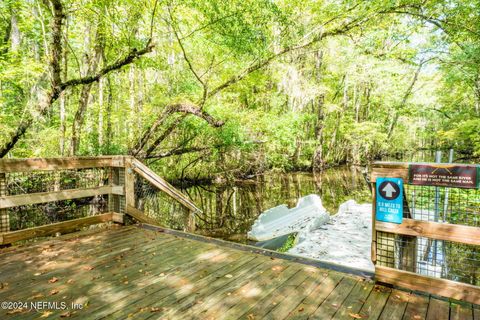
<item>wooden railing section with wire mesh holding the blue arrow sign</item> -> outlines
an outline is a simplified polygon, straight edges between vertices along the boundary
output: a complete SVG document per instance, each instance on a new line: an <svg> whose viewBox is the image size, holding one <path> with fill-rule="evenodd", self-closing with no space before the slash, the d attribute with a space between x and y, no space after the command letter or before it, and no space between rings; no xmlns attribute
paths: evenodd
<svg viewBox="0 0 480 320"><path fill-rule="evenodd" d="M372 168L375 277L380 282L479 304L478 183L465 188L439 185L428 179L416 183L412 181L411 165L418 166L375 163ZM442 167L434 163L422 165ZM465 165L444 165L442 169L454 166ZM478 175L478 166L476 171ZM401 223L377 220L376 182L379 178L401 178L403 181Z"/></svg>

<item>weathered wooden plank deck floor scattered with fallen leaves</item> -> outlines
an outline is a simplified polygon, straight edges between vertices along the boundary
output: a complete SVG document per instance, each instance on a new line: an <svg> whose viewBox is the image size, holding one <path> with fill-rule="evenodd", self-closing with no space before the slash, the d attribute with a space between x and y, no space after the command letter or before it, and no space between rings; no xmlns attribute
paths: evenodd
<svg viewBox="0 0 480 320"><path fill-rule="evenodd" d="M0 319L480 319L480 306L136 226L4 251L0 301L57 307Z"/></svg>

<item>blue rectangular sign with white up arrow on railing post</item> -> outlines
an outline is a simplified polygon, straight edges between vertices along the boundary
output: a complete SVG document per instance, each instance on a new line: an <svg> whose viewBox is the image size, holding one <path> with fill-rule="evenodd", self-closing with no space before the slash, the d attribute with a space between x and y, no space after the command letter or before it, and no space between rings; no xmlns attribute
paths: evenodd
<svg viewBox="0 0 480 320"><path fill-rule="evenodd" d="M378 221L402 223L403 179L377 178L376 219Z"/></svg>

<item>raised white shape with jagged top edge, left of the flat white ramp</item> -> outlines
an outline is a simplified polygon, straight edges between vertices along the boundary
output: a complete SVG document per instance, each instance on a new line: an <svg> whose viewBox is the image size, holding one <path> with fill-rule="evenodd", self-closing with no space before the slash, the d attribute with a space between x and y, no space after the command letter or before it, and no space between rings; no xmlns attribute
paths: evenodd
<svg viewBox="0 0 480 320"><path fill-rule="evenodd" d="M248 239L265 241L286 234L312 231L328 222L330 215L316 194L298 200L295 208L281 205L263 212L248 232Z"/></svg>

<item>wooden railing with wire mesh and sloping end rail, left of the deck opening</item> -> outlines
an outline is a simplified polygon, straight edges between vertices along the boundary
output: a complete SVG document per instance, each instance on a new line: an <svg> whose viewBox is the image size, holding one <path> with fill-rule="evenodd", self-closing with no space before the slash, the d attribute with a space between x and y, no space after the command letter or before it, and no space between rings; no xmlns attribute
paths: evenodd
<svg viewBox="0 0 480 320"><path fill-rule="evenodd" d="M62 188L61 174L75 174L82 170L99 170L89 173L88 178L98 182L90 187ZM96 174L105 175L106 181ZM50 159L1 159L0 160L0 245L13 243L35 237L48 236L78 230L81 227L104 222L123 223L123 215L128 214L140 222L157 224L155 219L146 216L135 206L135 174L138 174L150 184L182 206L187 208L192 216L200 211L195 204L168 182L159 177L143 163L130 156L111 157L80 157L80 158L50 158ZM16 175L21 175L21 179ZM49 177L50 190L35 190L29 192L29 187L35 185L38 175ZM15 179L21 180L15 185ZM37 180L36 180L37 179ZM12 182L13 181L13 182ZM52 182L53 181L53 182ZM67 182L69 180L67 179ZM37 183L44 187L42 183ZM27 185L25 187L24 185ZM35 185L38 189L38 186ZM20 190L12 194L10 189ZM18 191L17 190L17 191ZM94 215L67 221L35 225L30 228L11 231L10 216L14 210L22 212L35 205L58 203L91 197L104 197L108 202L106 212L95 212ZM13 210L13 211L12 211ZM15 212L17 212L15 211ZM42 212L42 210L37 210Z"/></svg>

